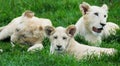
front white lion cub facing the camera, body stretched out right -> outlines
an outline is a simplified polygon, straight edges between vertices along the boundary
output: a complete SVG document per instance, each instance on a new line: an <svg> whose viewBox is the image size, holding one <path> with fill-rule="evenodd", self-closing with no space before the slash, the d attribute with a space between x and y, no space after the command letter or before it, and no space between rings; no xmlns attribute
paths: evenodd
<svg viewBox="0 0 120 66"><path fill-rule="evenodd" d="M50 53L69 53L77 59L82 59L87 55L95 54L98 57L102 54L113 55L116 50L113 48L100 48L80 44L74 39L76 27L70 25L67 28L46 26L45 32L51 41Z"/></svg>

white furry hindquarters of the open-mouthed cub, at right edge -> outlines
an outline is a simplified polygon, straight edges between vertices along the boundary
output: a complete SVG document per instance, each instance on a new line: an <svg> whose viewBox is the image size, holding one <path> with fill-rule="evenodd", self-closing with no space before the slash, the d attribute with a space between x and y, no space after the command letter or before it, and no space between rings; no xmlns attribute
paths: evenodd
<svg viewBox="0 0 120 66"><path fill-rule="evenodd" d="M107 38L110 35L115 35L116 30L119 30L119 29L120 27L117 24L108 22L106 26L104 27L102 37Z"/></svg>

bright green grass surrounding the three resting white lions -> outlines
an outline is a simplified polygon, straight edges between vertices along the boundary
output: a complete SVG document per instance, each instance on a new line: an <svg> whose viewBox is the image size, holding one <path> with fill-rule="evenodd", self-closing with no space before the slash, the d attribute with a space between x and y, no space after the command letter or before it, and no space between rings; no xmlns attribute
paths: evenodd
<svg viewBox="0 0 120 66"><path fill-rule="evenodd" d="M66 27L75 24L82 16L79 4L86 1L92 5L102 6L106 3L109 7L108 21L120 25L119 0L0 0L0 26L7 25L13 18L18 17L25 10L31 10L37 17L49 18L55 27ZM79 37L75 38L80 43L86 43ZM115 56L102 56L101 58L88 58L77 61L73 56L50 55L48 39L43 41L44 49L35 53L28 53L28 46L17 45L12 48L9 39L0 41L0 66L119 66L120 52ZM117 35L103 40L101 47L113 47L120 50L120 31Z"/></svg>

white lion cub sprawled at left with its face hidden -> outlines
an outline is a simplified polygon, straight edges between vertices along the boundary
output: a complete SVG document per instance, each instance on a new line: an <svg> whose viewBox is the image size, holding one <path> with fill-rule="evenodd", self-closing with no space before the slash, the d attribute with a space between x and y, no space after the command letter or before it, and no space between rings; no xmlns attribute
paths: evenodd
<svg viewBox="0 0 120 66"><path fill-rule="evenodd" d="M28 51L42 49L42 41L45 37L44 27L52 26L49 19L38 18L31 11L25 11L22 16L11 21L10 24L1 28L0 40L11 36L11 44L28 44Z"/></svg>

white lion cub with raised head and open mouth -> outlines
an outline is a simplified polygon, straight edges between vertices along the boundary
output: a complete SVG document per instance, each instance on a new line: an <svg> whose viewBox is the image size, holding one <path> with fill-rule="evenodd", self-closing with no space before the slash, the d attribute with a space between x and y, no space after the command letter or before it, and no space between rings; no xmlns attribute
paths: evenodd
<svg viewBox="0 0 120 66"><path fill-rule="evenodd" d="M105 4L98 7L83 2L80 4L80 10L83 16L75 24L76 35L83 36L93 46L99 46L102 38L115 35L116 29L119 29L115 23L106 23L108 7Z"/></svg>

